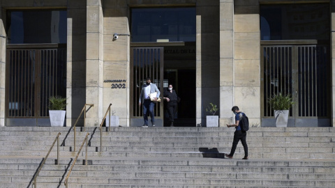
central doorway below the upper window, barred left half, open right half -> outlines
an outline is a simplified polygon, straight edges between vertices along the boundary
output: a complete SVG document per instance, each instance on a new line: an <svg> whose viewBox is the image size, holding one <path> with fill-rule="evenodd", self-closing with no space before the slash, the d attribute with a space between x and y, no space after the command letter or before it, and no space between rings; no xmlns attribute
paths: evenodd
<svg viewBox="0 0 335 188"><path fill-rule="evenodd" d="M131 126L143 125L143 109L138 106L138 101L141 86L148 76L158 86L162 98L169 84L181 97L174 125L195 126L195 74L195 42L184 46L132 47ZM170 125L166 105L164 101L156 103L156 126Z"/></svg>

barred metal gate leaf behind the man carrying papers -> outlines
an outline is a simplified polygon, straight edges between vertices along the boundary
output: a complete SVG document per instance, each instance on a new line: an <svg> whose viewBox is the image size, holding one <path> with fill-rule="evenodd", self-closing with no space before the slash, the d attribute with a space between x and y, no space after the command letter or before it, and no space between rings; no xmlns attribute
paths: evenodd
<svg viewBox="0 0 335 188"><path fill-rule="evenodd" d="M143 108L138 105L146 77L156 84L163 96L163 47L131 48L131 126L143 125ZM163 101L155 106L155 124L163 126ZM150 120L150 118L149 118Z"/></svg>

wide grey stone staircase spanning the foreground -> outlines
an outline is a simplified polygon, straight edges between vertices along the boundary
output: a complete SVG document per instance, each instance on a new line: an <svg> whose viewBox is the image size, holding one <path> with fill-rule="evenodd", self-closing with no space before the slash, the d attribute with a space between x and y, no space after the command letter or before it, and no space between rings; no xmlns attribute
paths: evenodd
<svg viewBox="0 0 335 188"><path fill-rule="evenodd" d="M88 127L88 166L80 153L69 187L335 187L335 129L251 128L249 160L230 152L233 129L226 127ZM32 178L58 132L57 146L37 179L37 187L65 187L73 164L70 127L0 127L0 188L34 187ZM77 149L86 132L77 128Z"/></svg>

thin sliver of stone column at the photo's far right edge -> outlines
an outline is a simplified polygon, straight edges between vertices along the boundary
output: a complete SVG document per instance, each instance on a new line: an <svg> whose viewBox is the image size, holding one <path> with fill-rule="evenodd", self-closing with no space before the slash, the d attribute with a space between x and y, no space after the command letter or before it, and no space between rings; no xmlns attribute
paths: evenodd
<svg viewBox="0 0 335 188"><path fill-rule="evenodd" d="M331 19L331 30L332 30L332 38L331 38L331 47L332 47L332 127L335 125L335 0L332 0L331 4L332 15Z"/></svg>

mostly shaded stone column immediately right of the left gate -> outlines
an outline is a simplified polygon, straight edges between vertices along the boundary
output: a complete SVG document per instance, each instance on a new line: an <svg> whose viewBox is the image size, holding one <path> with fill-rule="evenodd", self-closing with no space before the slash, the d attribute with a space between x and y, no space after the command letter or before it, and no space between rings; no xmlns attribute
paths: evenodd
<svg viewBox="0 0 335 188"><path fill-rule="evenodd" d="M72 126L86 103L86 1L68 1L66 126ZM83 125L82 118L78 125Z"/></svg>

